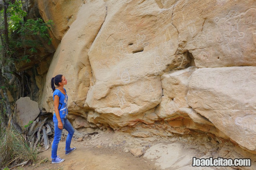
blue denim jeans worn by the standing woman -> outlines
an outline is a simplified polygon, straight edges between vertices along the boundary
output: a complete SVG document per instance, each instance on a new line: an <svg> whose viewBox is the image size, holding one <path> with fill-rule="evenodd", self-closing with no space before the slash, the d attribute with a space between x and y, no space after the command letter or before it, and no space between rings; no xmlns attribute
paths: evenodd
<svg viewBox="0 0 256 170"><path fill-rule="evenodd" d="M54 122L54 140L51 145L51 158L55 159L57 158L57 149L58 144L61 140L61 134L62 130L58 128L58 119L56 116L53 116L53 122ZM66 151L70 150L70 143L73 137L73 134L75 132L74 128L72 127L71 123L67 120L67 118L61 118L61 122L63 124L63 128L68 131L67 139L66 139Z"/></svg>

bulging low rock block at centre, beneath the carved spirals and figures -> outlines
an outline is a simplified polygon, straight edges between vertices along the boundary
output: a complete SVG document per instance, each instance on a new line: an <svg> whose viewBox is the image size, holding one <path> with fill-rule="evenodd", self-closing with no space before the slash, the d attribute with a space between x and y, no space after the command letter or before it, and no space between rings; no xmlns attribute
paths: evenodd
<svg viewBox="0 0 256 170"><path fill-rule="evenodd" d="M143 119L142 113L157 106L161 96L160 77L155 76L126 86L106 87L106 83L97 83L90 88L86 102L100 114L100 123L120 127Z"/></svg>

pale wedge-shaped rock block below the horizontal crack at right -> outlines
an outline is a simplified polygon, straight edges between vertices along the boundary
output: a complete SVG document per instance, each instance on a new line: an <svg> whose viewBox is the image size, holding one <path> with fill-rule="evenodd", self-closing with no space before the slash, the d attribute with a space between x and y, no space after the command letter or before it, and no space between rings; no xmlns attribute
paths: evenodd
<svg viewBox="0 0 256 170"><path fill-rule="evenodd" d="M255 84L255 67L200 68L189 83L189 105L239 145L255 151Z"/></svg>

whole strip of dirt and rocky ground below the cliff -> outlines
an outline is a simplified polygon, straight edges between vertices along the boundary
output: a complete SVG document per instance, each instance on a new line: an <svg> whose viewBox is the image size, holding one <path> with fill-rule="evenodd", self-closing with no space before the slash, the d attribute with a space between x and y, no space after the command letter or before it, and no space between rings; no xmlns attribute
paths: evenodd
<svg viewBox="0 0 256 170"><path fill-rule="evenodd" d="M174 135L169 138L158 136L134 138L123 132L100 131L86 135L83 141L73 138L71 147L77 150L65 155L65 136L59 143L58 155L65 158L60 164L51 162L32 164L18 169L31 170L76 170L76 169L256 169L255 156L244 151L230 141L210 135ZM142 156L134 156L137 149ZM134 153L136 155L136 153ZM41 159L51 160L51 149L40 153ZM251 158L251 167L192 167L192 158Z"/></svg>

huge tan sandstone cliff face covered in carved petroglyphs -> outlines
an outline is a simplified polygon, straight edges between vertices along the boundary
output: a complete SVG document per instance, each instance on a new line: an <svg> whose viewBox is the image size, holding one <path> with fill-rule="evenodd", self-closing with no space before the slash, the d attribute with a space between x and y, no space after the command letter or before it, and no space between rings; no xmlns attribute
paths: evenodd
<svg viewBox="0 0 256 170"><path fill-rule="evenodd" d="M76 128L200 130L255 151L254 0L76 2L38 2L61 40L40 108L53 111L50 80L63 74Z"/></svg>

